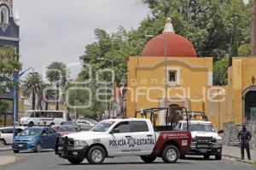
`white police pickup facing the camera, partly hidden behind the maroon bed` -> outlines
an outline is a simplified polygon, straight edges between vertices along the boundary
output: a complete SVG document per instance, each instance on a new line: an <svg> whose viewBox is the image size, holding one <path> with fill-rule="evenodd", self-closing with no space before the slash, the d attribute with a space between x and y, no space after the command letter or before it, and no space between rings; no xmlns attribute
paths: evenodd
<svg viewBox="0 0 256 170"><path fill-rule="evenodd" d="M177 122L175 129L187 130L187 124L186 121ZM181 158L184 158L185 155L195 155L204 156L205 159L215 156L216 160L221 160L223 141L212 122L204 120L189 121L189 131L192 134L191 149L186 154L181 155Z"/></svg>

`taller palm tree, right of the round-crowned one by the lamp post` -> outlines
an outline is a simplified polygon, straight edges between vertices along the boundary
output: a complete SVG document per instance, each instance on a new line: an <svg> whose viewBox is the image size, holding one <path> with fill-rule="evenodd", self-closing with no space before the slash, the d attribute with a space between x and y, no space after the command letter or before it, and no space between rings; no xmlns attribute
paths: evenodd
<svg viewBox="0 0 256 170"><path fill-rule="evenodd" d="M60 88L67 82L67 66L62 62L52 62L47 67L46 77L48 78L49 82L51 82L56 87L56 95L55 99L56 102L56 110L59 110L59 100L60 100Z"/></svg>

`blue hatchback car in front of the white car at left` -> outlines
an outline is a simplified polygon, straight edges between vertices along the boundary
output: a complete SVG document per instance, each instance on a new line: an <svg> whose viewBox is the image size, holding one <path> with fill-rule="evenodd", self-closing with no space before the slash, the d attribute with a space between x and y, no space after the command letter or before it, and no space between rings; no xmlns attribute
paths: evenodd
<svg viewBox="0 0 256 170"><path fill-rule="evenodd" d="M43 149L55 149L55 139L60 134L51 127L27 127L15 137L13 150L34 150L40 152Z"/></svg>

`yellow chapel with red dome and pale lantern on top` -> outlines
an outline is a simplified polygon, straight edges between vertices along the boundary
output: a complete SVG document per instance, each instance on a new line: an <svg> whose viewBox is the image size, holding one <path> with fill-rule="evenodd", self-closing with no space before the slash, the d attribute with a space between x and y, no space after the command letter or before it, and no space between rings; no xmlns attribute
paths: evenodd
<svg viewBox="0 0 256 170"><path fill-rule="evenodd" d="M192 43L175 33L171 19L163 33L145 45L142 56L130 57L127 67L127 116L162 106L205 110L212 57L197 57ZM157 123L166 123L165 114L159 114Z"/></svg>

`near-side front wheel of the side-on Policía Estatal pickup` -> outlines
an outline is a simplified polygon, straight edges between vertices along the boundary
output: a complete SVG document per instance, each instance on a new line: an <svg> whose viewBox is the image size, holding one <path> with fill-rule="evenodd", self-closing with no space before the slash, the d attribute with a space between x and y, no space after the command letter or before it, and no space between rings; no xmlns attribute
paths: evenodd
<svg viewBox="0 0 256 170"><path fill-rule="evenodd" d="M106 156L105 150L101 146L93 146L88 151L87 161L91 164L100 164Z"/></svg>

